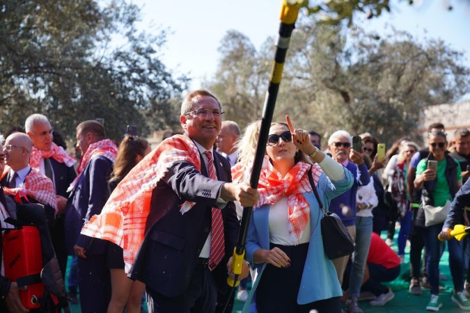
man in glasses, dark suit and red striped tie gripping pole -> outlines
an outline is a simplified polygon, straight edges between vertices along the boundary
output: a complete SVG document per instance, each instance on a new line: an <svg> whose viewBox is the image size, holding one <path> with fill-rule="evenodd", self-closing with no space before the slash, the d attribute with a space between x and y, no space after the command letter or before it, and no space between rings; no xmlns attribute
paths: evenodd
<svg viewBox="0 0 470 313"><path fill-rule="evenodd" d="M256 189L230 183L228 161L214 152L222 113L206 90L182 102L180 122L197 147L201 171L176 161L152 191L146 237L131 269L131 278L146 284L150 312L214 312L240 228L233 200L244 207L258 201ZM186 202L194 206L180 207ZM240 278L246 275L244 264Z"/></svg>

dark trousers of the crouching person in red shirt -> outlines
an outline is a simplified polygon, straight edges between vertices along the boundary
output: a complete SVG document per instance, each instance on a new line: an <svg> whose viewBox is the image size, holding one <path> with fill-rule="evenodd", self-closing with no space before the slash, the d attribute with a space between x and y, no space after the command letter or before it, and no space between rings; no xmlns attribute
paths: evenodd
<svg viewBox="0 0 470 313"><path fill-rule="evenodd" d="M391 282L398 278L400 275L400 265L386 268L379 264L367 264L369 268L369 275L370 278L362 285L362 291L370 291L375 296L380 296L381 294L385 294L389 288L381 284L381 282Z"/></svg>

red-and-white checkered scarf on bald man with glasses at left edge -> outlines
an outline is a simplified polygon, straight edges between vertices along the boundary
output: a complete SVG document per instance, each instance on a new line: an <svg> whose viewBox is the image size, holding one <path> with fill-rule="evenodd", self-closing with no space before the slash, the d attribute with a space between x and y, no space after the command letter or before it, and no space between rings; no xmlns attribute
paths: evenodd
<svg viewBox="0 0 470 313"><path fill-rule="evenodd" d="M8 174L9 171L10 167L5 166L2 179ZM57 212L56 191L54 191L54 184L52 184L51 179L41 174L36 168L31 168L31 172L26 175L24 184L22 186L11 189L3 187L3 191L5 191L7 195L13 195L14 197L17 195L31 196L31 198L34 198L40 204L50 205Z"/></svg>

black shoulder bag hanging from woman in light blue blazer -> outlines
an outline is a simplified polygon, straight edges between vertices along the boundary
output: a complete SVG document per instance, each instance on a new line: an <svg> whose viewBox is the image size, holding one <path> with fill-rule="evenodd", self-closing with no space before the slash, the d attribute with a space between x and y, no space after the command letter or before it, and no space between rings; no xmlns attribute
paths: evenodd
<svg viewBox="0 0 470 313"><path fill-rule="evenodd" d="M311 170L308 171L308 181L312 186L318 205L323 212L320 227L322 229L324 254L327 255L329 259L338 259L338 257L350 255L354 252L354 243L352 242L350 233L347 232L343 221L337 214L324 210L317 188L313 182Z"/></svg>

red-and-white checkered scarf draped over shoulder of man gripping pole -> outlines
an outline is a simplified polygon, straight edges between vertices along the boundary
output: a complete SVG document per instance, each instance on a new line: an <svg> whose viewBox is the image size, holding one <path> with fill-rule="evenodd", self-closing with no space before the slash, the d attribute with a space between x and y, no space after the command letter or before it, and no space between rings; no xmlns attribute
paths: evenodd
<svg viewBox="0 0 470 313"><path fill-rule="evenodd" d="M104 204L101 214L92 216L81 234L121 246L128 269L143 241L152 190L168 169L180 161L192 163L201 170L199 151L193 141L182 135L162 141L124 177ZM187 211L193 205L194 202L185 202L181 211Z"/></svg>

